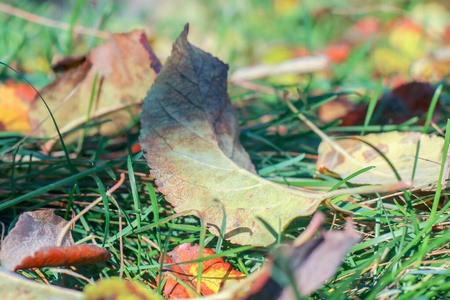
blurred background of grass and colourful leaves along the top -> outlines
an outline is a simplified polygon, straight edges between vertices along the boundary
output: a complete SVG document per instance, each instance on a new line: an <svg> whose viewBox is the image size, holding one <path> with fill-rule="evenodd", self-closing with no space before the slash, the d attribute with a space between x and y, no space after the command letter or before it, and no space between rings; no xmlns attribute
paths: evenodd
<svg viewBox="0 0 450 300"><path fill-rule="evenodd" d="M86 54L107 32L144 28L164 61L185 23L191 43L231 72L325 55L329 68L315 74L324 90L372 88L380 75L389 87L436 82L450 69L450 2L422 0L2 0L0 60L40 87L54 79L52 64ZM305 76L267 80L298 85Z"/></svg>

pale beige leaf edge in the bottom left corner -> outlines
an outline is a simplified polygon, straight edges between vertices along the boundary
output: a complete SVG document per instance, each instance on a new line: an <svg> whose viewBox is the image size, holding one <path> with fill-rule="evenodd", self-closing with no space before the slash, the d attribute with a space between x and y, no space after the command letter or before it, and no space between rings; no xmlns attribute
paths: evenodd
<svg viewBox="0 0 450 300"><path fill-rule="evenodd" d="M81 300L83 293L26 279L0 267L0 299Z"/></svg>

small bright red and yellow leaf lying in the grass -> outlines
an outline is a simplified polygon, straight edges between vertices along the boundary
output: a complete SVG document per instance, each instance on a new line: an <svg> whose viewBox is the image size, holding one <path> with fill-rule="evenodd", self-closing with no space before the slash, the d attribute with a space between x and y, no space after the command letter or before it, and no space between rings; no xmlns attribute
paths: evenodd
<svg viewBox="0 0 450 300"><path fill-rule="evenodd" d="M199 258L199 245L191 246L190 243L178 245L174 250L167 253L164 263L182 263ZM208 257L216 254L214 250L204 248L203 256ZM223 261L222 257L206 260L202 263L202 283L201 294L203 296L216 294L222 288L225 281L244 277L244 273L234 270L229 263ZM164 267L166 283L163 288L164 294L169 299L193 298L195 294L179 284L168 273L183 280L190 285L193 290L197 288L198 263L185 263Z"/></svg>

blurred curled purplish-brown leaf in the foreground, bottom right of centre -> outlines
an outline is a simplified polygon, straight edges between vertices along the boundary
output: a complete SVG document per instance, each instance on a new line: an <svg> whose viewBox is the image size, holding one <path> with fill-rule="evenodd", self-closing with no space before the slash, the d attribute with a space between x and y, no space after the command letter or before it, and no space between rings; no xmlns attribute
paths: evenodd
<svg viewBox="0 0 450 300"><path fill-rule="evenodd" d="M348 250L360 240L351 220L344 230L321 231L314 237L324 219L323 214L317 213L292 244L275 248L259 271L226 285L217 298L298 299L293 282L301 297L317 290L333 276Z"/></svg>

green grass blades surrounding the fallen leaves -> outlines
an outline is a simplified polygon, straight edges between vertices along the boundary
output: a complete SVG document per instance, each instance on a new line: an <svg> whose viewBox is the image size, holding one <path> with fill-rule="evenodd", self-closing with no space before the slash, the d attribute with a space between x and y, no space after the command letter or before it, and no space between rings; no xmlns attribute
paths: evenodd
<svg viewBox="0 0 450 300"><path fill-rule="evenodd" d="M15 4L12 1L9 3ZM42 16L50 17L52 12L58 11L51 3L23 3L22 9ZM154 24L152 38L161 38L169 44L179 34L184 22L190 21L193 30L190 39L193 43L201 46L203 40L215 34L217 43L204 49L226 59L233 70L260 61L262 54L258 49L269 47L267 41L290 47L301 44L313 50L323 49L328 41L339 41L342 38L339 33L358 19L357 16L342 19L338 15L326 19L313 14L317 7L339 7L342 6L340 2L305 1L304 10L284 18L272 15L271 3L236 0L230 1L230 4L202 4L199 11L204 18L190 20L186 16L185 19L159 20ZM132 27L130 24L134 26L138 21L145 22L145 16L131 21L130 16L120 15L123 3L112 5L108 1L98 1L98 6L93 7L90 1L72 1L70 5L77 9L72 13L62 13L60 20L70 24L71 29L77 22L86 27L97 25L100 30L117 28L120 22L127 29ZM278 26L267 24L269 17L273 17ZM386 22L394 18L392 15L379 17ZM27 66L41 60L49 64L54 54L82 54L102 41L90 36L74 39L72 30L32 25L1 13L0 21L0 60L13 66ZM233 29L229 26L230 22L234 24ZM229 43L235 38L230 30L236 30L244 42ZM302 97L307 103L303 106L296 103L298 109L330 135L393 130L435 132L429 127L434 107L430 109L425 126L414 117L401 125L372 123L371 113L377 95L385 88L379 76L374 76L373 64L366 59L372 43L368 41L360 45L346 63L334 65L328 77L317 74L302 77L294 87L303 91ZM168 45L159 49L165 47ZM48 69L48 66L45 68ZM31 68L31 73L25 76L33 85L42 87L54 76L48 75L47 69ZM0 69L0 76L1 79L18 78L4 67ZM270 81L259 83L274 90L285 88L273 86ZM241 120L241 141L260 175L282 184L319 187L322 190L348 185L345 179L325 175L314 177L317 175L314 155L317 154L320 138L299 121L296 114L290 112L284 101L273 95L243 90L233 85L229 91ZM341 95L348 95L354 102L372 104L364 125L338 127L338 122L326 124L318 119L317 108ZM443 98L449 97L445 83L441 95ZM446 124L445 118L437 122L439 128L445 128ZM283 128L285 132L280 133L274 128ZM85 133L86 127L77 130ZM65 145L66 156L43 154L39 148L42 141L31 138L10 151L21 136L0 132L0 220L7 231L25 211L55 208L59 215L70 219L72 213L79 213L94 199L102 197L103 201L82 216L73 230L76 241L91 242L90 237L94 237L99 245L104 245L113 254L113 258L106 263L76 268L77 272L88 278L96 280L120 274L119 220L122 222L123 276L130 280L150 283L155 287L155 281L161 279L160 257L184 242L200 244L201 251L204 247L215 249L217 254L210 258L223 257L245 274L258 270L273 247L230 244L222 237L205 231L199 218L176 214L148 175L149 168L142 152L131 153L138 132L139 120L133 120L126 127L126 132L115 137L88 137L84 134L80 141ZM447 143L448 136L447 130ZM71 153L78 153L77 158L68 158ZM114 158L109 156L112 153ZM119 180L120 174L126 174L126 180L113 193L113 201L106 191ZM309 299L448 299L448 196L449 191L438 186L434 194L404 191L404 194L391 199L377 195L361 195L352 202L343 197L333 199L334 204L354 213L354 222L363 240L351 249L336 275ZM334 216L334 212L325 207L319 210L327 216L326 230L343 227L345 220L341 216ZM333 217L336 217L335 222L332 222ZM224 220L226 222L226 216ZM289 242L305 229L309 220L309 217L296 219L277 239ZM445 229L433 230L438 228L437 224L442 224ZM195 262L201 261L204 259ZM86 285L79 278L63 276L48 268L41 269L41 272L42 275L35 271L21 271L38 281L42 281L40 276L43 276L55 285L64 282L65 287L74 289L82 289ZM160 289L157 290L160 292Z"/></svg>

